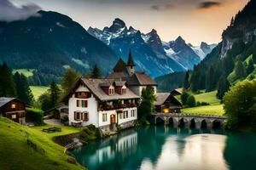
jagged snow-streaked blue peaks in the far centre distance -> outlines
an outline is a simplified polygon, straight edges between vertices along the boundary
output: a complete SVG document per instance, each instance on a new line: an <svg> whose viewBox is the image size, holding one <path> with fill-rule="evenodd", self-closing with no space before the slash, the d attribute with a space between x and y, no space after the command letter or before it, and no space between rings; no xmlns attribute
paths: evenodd
<svg viewBox="0 0 256 170"><path fill-rule="evenodd" d="M201 42L200 47L194 47L182 37L163 42L154 29L144 34L132 26L128 28L120 19L113 20L112 26L106 26L102 30L89 27L87 31L106 43L123 59L127 59L131 49L137 69L148 72L152 77L193 69L216 46Z"/></svg>

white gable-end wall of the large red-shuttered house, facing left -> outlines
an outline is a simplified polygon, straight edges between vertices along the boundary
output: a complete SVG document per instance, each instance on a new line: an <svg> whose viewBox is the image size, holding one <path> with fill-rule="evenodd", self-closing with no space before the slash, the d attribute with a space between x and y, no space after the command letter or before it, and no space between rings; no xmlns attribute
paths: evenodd
<svg viewBox="0 0 256 170"><path fill-rule="evenodd" d="M88 88L80 86L76 92L90 92ZM75 98L75 95L73 94L71 98L68 99L68 107L69 107L69 111L68 111L68 118L69 118L69 125L72 125L72 122L77 122L74 120L74 112L75 111L80 111L80 112L84 112L87 111L88 112L88 121L87 122L83 122L82 125L83 126L87 126L90 124L95 125L96 127L98 127L98 117L97 117L97 101L96 98L94 97L94 95L91 95L90 98L88 99L84 99L87 100L88 103L88 107L86 108L82 108L82 107L77 107L77 100L78 98Z"/></svg>

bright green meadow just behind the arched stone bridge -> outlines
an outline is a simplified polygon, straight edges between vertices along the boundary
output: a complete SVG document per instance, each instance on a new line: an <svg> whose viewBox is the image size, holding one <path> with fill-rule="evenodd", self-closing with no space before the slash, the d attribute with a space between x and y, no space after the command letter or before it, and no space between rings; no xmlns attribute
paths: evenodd
<svg viewBox="0 0 256 170"><path fill-rule="evenodd" d="M207 102L210 105L199 106L193 108L185 108L183 113L188 114L206 114L206 115L223 115L223 105L220 104L220 100L216 98L217 91L212 91L204 94L195 94L195 100L200 102Z"/></svg>

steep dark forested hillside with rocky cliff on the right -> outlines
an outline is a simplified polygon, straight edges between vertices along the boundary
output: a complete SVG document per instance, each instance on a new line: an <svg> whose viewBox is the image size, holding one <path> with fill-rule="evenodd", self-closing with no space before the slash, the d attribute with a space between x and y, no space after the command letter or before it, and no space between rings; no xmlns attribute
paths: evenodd
<svg viewBox="0 0 256 170"><path fill-rule="evenodd" d="M223 32L223 41L208 54L201 64L196 65L189 77L193 91L218 89L222 99L224 92L243 79L256 76L256 1L232 18L230 26Z"/></svg>

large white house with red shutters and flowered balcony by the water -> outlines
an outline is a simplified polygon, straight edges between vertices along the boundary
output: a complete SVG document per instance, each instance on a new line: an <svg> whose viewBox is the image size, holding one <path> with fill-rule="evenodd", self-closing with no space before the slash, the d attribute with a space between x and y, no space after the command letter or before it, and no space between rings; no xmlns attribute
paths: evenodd
<svg viewBox="0 0 256 170"><path fill-rule="evenodd" d="M124 81L80 78L63 102L68 105L69 125L114 130L117 125L133 126L137 99Z"/></svg>

